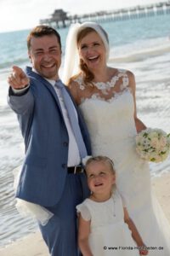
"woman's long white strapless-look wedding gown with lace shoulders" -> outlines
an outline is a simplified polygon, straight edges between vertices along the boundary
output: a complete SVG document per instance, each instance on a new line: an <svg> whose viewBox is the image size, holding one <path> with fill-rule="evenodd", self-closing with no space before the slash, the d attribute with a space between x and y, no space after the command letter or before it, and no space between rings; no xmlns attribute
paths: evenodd
<svg viewBox="0 0 170 256"><path fill-rule="evenodd" d="M150 247L149 255L168 256L169 224L151 192L149 165L135 151L137 131L133 119L133 95L128 88L127 73L119 70L111 82L95 85L105 96L107 89L114 89L120 79L121 92L114 93L107 101L101 94L84 97L79 108L88 125L93 155L106 155L114 161L117 189L126 198L129 215L144 243ZM85 86L82 78L75 81L83 93Z"/></svg>

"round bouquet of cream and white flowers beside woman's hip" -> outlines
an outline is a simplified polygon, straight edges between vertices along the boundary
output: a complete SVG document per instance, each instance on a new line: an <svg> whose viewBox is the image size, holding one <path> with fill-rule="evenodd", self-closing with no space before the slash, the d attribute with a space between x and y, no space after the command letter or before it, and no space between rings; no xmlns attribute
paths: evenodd
<svg viewBox="0 0 170 256"><path fill-rule="evenodd" d="M170 134L147 128L136 136L136 150L141 158L155 163L166 160L170 152Z"/></svg>

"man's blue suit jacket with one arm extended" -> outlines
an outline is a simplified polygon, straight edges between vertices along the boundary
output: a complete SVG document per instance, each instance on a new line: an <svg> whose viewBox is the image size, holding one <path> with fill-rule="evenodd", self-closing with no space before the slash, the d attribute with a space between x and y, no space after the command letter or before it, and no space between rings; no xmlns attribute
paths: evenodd
<svg viewBox="0 0 170 256"><path fill-rule="evenodd" d="M22 96L9 93L8 97L26 144L16 196L49 207L59 201L65 186L69 137L54 87L33 73L31 67L26 68L26 73L31 79L29 90ZM87 127L78 109L77 113L84 143L91 154Z"/></svg>

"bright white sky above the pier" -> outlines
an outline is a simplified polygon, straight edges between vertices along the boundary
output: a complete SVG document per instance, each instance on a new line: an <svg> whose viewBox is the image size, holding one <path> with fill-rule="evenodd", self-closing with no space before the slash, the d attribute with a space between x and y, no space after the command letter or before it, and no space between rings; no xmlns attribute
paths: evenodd
<svg viewBox="0 0 170 256"><path fill-rule="evenodd" d="M87 14L101 10L122 9L158 0L0 0L0 32L32 28L39 20L50 18L54 9L69 15Z"/></svg>

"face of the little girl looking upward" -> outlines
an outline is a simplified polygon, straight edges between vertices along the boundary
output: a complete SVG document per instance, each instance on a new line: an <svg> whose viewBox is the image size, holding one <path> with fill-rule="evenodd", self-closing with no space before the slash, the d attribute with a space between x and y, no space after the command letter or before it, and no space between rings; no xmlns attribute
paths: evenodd
<svg viewBox="0 0 170 256"><path fill-rule="evenodd" d="M111 194L115 174L105 162L91 162L87 168L88 187L94 194Z"/></svg>

